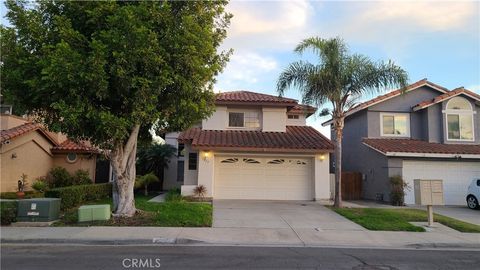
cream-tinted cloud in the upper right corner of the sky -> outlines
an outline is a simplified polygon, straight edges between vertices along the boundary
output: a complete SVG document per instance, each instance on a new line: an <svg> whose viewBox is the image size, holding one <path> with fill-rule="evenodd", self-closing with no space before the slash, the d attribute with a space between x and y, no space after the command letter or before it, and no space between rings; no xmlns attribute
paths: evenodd
<svg viewBox="0 0 480 270"><path fill-rule="evenodd" d="M336 25L334 31L368 42L405 42L405 37L415 34L442 31L478 35L479 8L478 2L467 1L363 2L347 6L343 16L329 26Z"/></svg>

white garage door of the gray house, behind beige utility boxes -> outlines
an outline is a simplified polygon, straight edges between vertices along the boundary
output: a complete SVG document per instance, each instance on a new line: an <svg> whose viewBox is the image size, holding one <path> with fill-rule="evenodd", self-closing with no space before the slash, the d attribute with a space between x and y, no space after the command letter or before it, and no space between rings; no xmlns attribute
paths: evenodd
<svg viewBox="0 0 480 270"><path fill-rule="evenodd" d="M446 205L465 205L467 188L472 179L480 178L480 162L404 161L403 178L410 191L405 203L414 204L414 179L441 179Z"/></svg>

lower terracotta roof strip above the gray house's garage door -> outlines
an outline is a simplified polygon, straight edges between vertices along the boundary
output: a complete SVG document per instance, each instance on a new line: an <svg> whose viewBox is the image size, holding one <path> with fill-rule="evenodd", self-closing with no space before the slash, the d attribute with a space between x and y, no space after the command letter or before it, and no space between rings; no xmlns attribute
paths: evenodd
<svg viewBox="0 0 480 270"><path fill-rule="evenodd" d="M480 155L478 144L441 144L413 139L386 139L365 138L363 143L384 154L399 153L426 153L452 155Z"/></svg>

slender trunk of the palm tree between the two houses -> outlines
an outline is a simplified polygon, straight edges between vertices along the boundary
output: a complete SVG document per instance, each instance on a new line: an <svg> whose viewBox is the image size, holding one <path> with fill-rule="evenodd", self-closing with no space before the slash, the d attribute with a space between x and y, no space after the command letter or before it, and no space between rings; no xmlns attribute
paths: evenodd
<svg viewBox="0 0 480 270"><path fill-rule="evenodd" d="M334 207L342 207L342 137L344 118L334 120L335 130L335 202Z"/></svg>

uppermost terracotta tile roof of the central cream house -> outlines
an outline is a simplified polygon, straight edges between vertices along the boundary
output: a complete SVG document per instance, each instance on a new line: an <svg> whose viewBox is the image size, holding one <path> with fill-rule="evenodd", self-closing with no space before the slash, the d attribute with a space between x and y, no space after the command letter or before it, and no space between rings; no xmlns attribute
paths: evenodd
<svg viewBox="0 0 480 270"><path fill-rule="evenodd" d="M232 91L224 92L216 95L216 104L231 103L262 103L262 104L278 104L278 105L296 105L295 99L278 97L273 95L254 93L250 91Z"/></svg>

